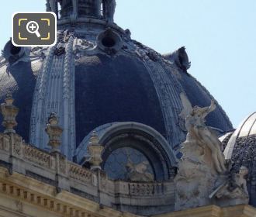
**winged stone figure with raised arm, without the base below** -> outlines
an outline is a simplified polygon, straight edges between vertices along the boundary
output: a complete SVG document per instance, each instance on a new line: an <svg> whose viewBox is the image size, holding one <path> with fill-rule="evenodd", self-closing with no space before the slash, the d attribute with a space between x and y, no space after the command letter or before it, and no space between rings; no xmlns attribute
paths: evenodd
<svg viewBox="0 0 256 217"><path fill-rule="evenodd" d="M216 171L220 174L227 171L225 167L225 157L222 152L222 145L213 129L206 126L206 116L216 108L215 102L212 100L209 107L200 108L195 106L192 108L188 98L182 93L183 110L181 116L185 119L185 128L188 130L188 138L195 140L199 146L207 146L211 151L211 157Z"/></svg>

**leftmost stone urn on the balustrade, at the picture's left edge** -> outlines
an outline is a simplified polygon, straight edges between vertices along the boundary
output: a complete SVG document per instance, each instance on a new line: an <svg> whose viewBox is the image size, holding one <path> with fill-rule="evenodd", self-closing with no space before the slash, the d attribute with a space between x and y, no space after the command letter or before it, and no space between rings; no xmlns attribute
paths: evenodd
<svg viewBox="0 0 256 217"><path fill-rule="evenodd" d="M12 105L12 102L14 102L12 94L8 93L5 102L1 104L1 113L3 116L2 126L5 127L4 133L16 133L13 128L18 125L16 116L18 115L19 108Z"/></svg>

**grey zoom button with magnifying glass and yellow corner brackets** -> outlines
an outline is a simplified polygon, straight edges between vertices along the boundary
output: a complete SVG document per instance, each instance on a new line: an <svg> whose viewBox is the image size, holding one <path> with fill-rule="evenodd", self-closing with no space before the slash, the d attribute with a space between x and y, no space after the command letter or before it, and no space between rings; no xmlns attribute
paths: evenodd
<svg viewBox="0 0 256 217"><path fill-rule="evenodd" d="M50 47L56 43L53 12L18 12L12 17L12 43L16 47Z"/></svg>

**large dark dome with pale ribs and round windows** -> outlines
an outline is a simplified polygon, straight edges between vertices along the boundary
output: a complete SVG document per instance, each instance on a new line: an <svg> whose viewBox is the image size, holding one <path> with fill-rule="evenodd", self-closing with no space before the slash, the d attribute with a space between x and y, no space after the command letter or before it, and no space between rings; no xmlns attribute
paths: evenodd
<svg viewBox="0 0 256 217"><path fill-rule="evenodd" d="M115 4L111 1L103 5L102 13L100 1L90 2L78 1L72 8L71 1L61 2L63 17L57 22L54 47L30 49L6 44L0 59L0 99L12 92L19 107L16 132L44 150L48 150L44 132L47 117L57 113L64 129L61 151L79 163L86 155L86 138L93 130L113 123L119 123L119 127L133 123L111 135L129 137L132 133L136 142L130 143L144 146L140 149L133 145L140 149L140 153L134 153L150 162L154 152L159 154L166 161L159 177L168 177L171 165L175 165L175 149L185 140L179 116L181 93L199 106L209 105L213 96L188 73L190 63L184 47L161 55L132 40L128 29L112 22ZM58 10L52 8L47 5L47 10ZM207 117L207 125L220 133L233 129L220 105ZM103 145L109 140L102 140ZM148 146L152 146L152 152L143 153ZM129 144L125 147L130 151ZM81 154L80 150L85 152ZM154 169L162 163L150 164ZM152 173L157 176L157 172Z"/></svg>

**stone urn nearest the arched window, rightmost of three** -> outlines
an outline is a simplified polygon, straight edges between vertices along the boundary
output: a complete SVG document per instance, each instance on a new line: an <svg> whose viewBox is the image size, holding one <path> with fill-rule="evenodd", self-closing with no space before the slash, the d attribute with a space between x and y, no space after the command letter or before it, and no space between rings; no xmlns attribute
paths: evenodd
<svg viewBox="0 0 256 217"><path fill-rule="evenodd" d="M89 163L91 164L91 170L94 171L96 169L101 170L102 167L100 164L102 163L102 150L104 147L99 144L99 137L97 133L94 131L90 138L87 150L90 155Z"/></svg>

